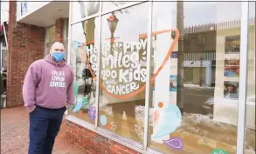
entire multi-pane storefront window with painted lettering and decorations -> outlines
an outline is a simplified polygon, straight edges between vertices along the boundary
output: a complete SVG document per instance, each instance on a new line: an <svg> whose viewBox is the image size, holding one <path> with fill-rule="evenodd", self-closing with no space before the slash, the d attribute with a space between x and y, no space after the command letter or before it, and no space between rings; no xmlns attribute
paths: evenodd
<svg viewBox="0 0 256 154"><path fill-rule="evenodd" d="M153 153L235 154L241 2L152 2L152 20L149 3L132 6L138 2L103 1L102 17L72 25L69 114L139 148L148 133ZM245 154L255 153L255 2L249 5ZM99 10L100 2L73 2L72 21Z"/></svg>

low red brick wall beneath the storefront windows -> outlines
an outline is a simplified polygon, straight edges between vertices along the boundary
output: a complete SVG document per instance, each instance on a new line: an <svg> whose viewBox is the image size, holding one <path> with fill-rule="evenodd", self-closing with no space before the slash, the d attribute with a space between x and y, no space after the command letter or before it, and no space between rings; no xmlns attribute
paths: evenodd
<svg viewBox="0 0 256 154"><path fill-rule="evenodd" d="M139 152L118 144L107 137L89 131L68 120L66 124L66 138L89 154L139 154Z"/></svg>

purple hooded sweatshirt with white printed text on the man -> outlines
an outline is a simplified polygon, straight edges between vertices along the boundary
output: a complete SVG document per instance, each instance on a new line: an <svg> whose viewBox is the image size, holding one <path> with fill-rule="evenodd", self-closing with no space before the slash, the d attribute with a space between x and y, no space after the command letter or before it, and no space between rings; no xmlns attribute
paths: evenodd
<svg viewBox="0 0 256 154"><path fill-rule="evenodd" d="M48 109L60 109L74 104L73 71L62 61L57 64L49 55L29 67L23 84L24 106L35 104Z"/></svg>

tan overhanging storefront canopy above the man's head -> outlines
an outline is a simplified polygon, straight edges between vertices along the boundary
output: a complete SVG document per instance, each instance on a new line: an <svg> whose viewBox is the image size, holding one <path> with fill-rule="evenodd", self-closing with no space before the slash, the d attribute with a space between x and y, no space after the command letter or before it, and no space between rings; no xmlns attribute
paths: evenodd
<svg viewBox="0 0 256 154"><path fill-rule="evenodd" d="M17 18L17 22L47 27L54 24L60 17L68 17L68 14L69 2L44 2L42 7L28 10L23 16Z"/></svg>

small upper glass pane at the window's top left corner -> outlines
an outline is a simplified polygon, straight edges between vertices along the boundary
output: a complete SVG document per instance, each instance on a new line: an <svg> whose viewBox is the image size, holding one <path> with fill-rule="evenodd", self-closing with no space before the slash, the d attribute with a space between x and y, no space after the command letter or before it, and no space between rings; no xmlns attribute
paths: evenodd
<svg viewBox="0 0 256 154"><path fill-rule="evenodd" d="M97 14L100 10L100 2L93 1L77 1L73 2L72 21L80 20L84 17L89 17ZM84 22L82 23L84 26Z"/></svg>

